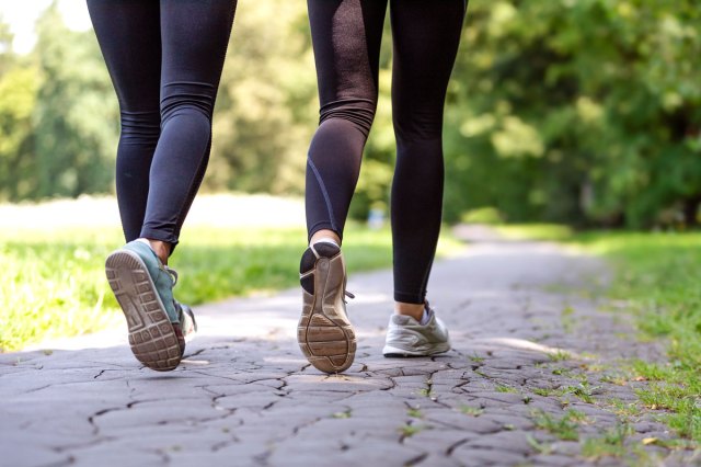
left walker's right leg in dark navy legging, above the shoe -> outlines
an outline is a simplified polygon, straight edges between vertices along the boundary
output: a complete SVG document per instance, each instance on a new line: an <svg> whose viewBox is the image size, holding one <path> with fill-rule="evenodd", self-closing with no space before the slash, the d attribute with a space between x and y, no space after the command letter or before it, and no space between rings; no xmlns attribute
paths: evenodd
<svg viewBox="0 0 701 467"><path fill-rule="evenodd" d="M209 159L235 0L161 0L161 136L140 237L174 247Z"/></svg>

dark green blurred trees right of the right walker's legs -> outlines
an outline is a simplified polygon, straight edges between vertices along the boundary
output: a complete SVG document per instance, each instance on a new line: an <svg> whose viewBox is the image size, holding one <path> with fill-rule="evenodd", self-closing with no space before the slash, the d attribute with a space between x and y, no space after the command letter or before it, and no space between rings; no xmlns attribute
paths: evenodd
<svg viewBox="0 0 701 467"><path fill-rule="evenodd" d="M701 27L679 1L471 5L447 214L644 227L701 200Z"/></svg>

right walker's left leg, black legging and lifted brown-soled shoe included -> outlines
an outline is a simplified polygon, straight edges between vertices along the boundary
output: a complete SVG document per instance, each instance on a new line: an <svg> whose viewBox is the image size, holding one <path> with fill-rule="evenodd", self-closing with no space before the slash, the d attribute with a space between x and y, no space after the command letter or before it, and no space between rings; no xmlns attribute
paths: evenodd
<svg viewBox="0 0 701 467"><path fill-rule="evenodd" d="M310 246L300 262L299 346L318 369L343 372L355 357L340 249L375 107L387 1L308 0L321 117L307 159Z"/></svg>

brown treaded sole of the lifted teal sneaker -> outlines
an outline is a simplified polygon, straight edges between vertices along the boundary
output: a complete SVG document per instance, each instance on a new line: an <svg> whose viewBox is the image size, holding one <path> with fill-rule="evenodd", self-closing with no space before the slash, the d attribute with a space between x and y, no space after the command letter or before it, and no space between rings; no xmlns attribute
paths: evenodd
<svg viewBox="0 0 701 467"><path fill-rule="evenodd" d="M105 274L127 320L134 356L157 372L175 369L183 352L143 261L131 251L116 251L107 257Z"/></svg>

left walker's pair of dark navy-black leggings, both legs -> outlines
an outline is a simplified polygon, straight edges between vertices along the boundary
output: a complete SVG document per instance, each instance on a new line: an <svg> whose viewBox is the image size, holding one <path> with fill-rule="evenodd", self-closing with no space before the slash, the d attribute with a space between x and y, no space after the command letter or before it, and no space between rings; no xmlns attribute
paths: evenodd
<svg viewBox="0 0 701 467"><path fill-rule="evenodd" d="M117 201L127 241L177 243L211 146L235 0L88 0L119 100Z"/></svg>

